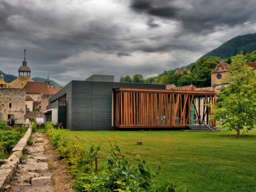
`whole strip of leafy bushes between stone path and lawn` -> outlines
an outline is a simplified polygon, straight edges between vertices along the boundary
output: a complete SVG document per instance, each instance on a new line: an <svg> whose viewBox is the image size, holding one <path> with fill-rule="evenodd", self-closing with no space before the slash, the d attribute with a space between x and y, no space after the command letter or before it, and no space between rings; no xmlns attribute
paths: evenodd
<svg viewBox="0 0 256 192"><path fill-rule="evenodd" d="M67 131L54 129L51 122L46 124L51 144L58 157L68 166L74 178L76 191L175 191L174 184L154 182L158 171L153 172L146 162L134 154L133 159L125 158L116 141L110 143L111 155L106 166L95 170L95 157L100 144L87 146L77 138L70 138Z"/></svg>

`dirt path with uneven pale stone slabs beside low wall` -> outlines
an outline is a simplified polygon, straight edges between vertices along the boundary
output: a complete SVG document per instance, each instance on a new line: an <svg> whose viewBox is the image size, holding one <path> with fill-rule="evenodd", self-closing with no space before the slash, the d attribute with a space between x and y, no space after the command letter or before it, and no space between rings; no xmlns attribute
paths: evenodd
<svg viewBox="0 0 256 192"><path fill-rule="evenodd" d="M33 133L33 137L34 145L26 147L28 156L20 162L6 191L72 192L70 175L47 136Z"/></svg>

